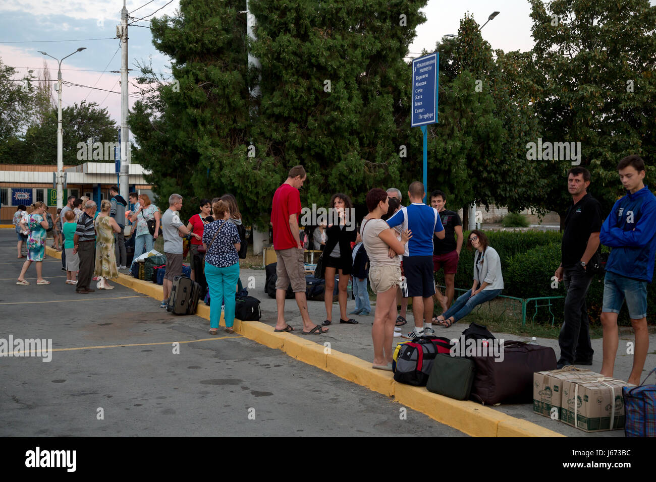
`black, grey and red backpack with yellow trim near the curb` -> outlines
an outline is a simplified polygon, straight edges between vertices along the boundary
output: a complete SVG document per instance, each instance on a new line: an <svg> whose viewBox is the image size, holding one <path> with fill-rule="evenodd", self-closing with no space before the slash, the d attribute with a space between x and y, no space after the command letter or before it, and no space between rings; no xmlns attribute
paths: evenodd
<svg viewBox="0 0 656 482"><path fill-rule="evenodd" d="M438 353L449 353L451 341L440 336L422 336L402 344L396 360L394 380L426 386L433 361Z"/></svg>

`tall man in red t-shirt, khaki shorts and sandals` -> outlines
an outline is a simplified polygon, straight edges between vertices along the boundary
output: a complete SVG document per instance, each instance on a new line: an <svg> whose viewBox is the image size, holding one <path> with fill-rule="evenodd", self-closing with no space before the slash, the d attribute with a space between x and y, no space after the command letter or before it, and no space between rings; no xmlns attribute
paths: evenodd
<svg viewBox="0 0 656 482"><path fill-rule="evenodd" d="M274 229L274 249L278 258L276 264L276 305L278 317L274 331L294 331L285 322L285 294L291 283L296 303L303 319L302 334L323 334L328 330L310 321L308 302L305 298L305 270L303 246L298 236L298 215L300 214L300 195L306 179L302 166L290 169L287 180L277 188L271 211L271 224Z"/></svg>

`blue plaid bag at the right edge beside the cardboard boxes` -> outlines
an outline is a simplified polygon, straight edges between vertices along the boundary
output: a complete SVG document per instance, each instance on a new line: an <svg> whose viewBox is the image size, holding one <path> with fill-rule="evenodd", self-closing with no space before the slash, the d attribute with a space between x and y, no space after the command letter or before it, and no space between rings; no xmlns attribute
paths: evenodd
<svg viewBox="0 0 656 482"><path fill-rule="evenodd" d="M656 372L653 369L647 378ZM656 437L656 385L645 385L647 378L637 387L623 387L626 437Z"/></svg>

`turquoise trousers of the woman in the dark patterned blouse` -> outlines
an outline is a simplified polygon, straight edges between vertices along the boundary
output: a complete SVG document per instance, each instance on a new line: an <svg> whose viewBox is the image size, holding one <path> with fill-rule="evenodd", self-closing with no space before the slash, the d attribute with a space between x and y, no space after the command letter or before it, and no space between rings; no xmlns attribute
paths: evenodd
<svg viewBox="0 0 656 482"><path fill-rule="evenodd" d="M205 262L205 279L209 287L209 326L218 328L221 319L221 300L224 300L226 327L235 321L235 289L239 279L239 262L228 268L216 268ZM225 298L225 299L224 299Z"/></svg>

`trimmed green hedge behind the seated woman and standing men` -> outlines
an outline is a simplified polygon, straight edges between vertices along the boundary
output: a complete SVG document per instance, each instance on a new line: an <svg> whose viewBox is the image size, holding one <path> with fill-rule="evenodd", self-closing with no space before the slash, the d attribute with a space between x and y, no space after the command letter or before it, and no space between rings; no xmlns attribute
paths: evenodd
<svg viewBox="0 0 656 482"><path fill-rule="evenodd" d="M565 296L562 283L552 288L552 276L560 264L560 243L562 233L557 231L488 231L485 233L489 244L501 258L504 291L506 296L517 298L537 298L540 296ZM469 232L464 233L468 239ZM608 251L606 247L603 251ZM455 287L469 289L472 286L474 253L463 244ZM443 271L436 275L438 284L444 284ZM592 323L600 323L602 300L604 297L604 277L597 275L592 280L588 296L588 315ZM529 310L533 313L533 310ZM543 318L543 309L539 310ZM556 314L556 323L562 323L563 302L556 302L552 311ZM529 315L532 316L532 314ZM529 318L531 316L528 316ZM537 319L537 318L536 318ZM647 322L656 320L656 287L647 285ZM619 315L620 325L630 325L626 304Z"/></svg>

